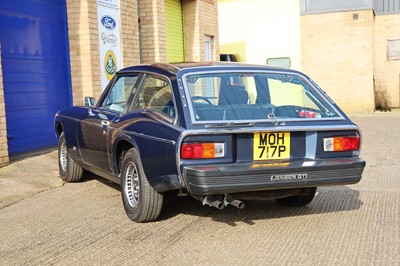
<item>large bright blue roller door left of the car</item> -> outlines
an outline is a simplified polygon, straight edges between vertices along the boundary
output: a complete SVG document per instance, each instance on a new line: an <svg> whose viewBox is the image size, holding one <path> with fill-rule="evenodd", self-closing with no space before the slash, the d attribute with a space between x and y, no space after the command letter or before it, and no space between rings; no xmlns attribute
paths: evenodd
<svg viewBox="0 0 400 266"><path fill-rule="evenodd" d="M54 114L71 105L65 0L0 1L10 155L54 146Z"/></svg>

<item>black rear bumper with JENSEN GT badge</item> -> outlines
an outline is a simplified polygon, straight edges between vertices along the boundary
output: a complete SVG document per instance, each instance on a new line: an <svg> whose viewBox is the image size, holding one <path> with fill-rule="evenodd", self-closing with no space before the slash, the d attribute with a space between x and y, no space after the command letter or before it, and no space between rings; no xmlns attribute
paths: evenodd
<svg viewBox="0 0 400 266"><path fill-rule="evenodd" d="M186 166L188 191L196 195L354 184L365 161L359 158Z"/></svg>

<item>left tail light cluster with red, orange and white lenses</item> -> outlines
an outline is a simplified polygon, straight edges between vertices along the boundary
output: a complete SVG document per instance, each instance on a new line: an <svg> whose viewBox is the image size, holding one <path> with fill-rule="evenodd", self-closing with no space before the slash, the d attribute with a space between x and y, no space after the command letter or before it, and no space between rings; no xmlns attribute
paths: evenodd
<svg viewBox="0 0 400 266"><path fill-rule="evenodd" d="M187 143L182 145L182 159L212 159L225 156L223 143Z"/></svg>

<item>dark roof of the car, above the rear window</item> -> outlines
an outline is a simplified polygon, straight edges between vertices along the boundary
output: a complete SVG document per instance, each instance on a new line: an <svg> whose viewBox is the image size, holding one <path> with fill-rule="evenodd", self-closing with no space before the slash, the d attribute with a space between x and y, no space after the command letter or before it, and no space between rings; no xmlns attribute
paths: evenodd
<svg viewBox="0 0 400 266"><path fill-rule="evenodd" d="M295 70L267 66L267 65L255 65L238 62L185 62L185 63L154 63L154 64L140 64L123 68L118 73L131 73L131 72L156 72L163 75L176 75L179 71L191 72L191 71L212 71L212 70L261 70L261 71L285 71L285 72L296 72Z"/></svg>

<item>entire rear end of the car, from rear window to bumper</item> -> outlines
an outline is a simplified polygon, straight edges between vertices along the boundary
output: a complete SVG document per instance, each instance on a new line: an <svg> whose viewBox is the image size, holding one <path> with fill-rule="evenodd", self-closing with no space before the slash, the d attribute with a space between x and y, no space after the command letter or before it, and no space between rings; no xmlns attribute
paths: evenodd
<svg viewBox="0 0 400 266"><path fill-rule="evenodd" d="M358 127L307 76L220 67L187 71L181 80L188 131L178 142L178 161L189 192L360 180L365 162L358 158Z"/></svg>

